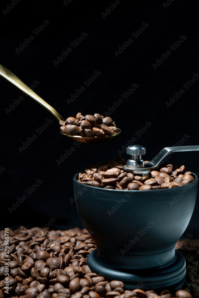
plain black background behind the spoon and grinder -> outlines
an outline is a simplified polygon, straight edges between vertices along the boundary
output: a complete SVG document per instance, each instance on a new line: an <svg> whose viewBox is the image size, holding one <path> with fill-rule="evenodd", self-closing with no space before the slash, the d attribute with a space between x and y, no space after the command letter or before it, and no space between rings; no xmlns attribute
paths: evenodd
<svg viewBox="0 0 199 298"><path fill-rule="evenodd" d="M135 142L146 147L145 160L151 160L164 147L179 141L182 145L184 135L187 140L183 145L198 145L198 80L188 90L183 87L199 71L196 4L175 0L166 6L161 1L123 0L103 17L111 3L115 1L21 0L10 9L7 5L12 1L1 2L0 63L28 86L37 80L34 91L65 119L75 117L77 112L104 114L114 102L123 99L110 115L122 134L105 144L77 147L60 134L53 115L0 77L0 167L5 169L0 174L3 228L44 226L49 218L55 220L50 228L83 227L75 203L70 202L74 195L72 177L89 164L115 160L122 145L136 137L146 122L152 125L140 137L137 135ZM44 20L50 23L34 34ZM143 23L148 24L146 30L138 38L132 37ZM81 32L88 36L73 48L71 43L80 38ZM16 48L30 35L34 39L17 53ZM172 51L170 46L181 35L187 38ZM116 57L115 51L129 38L133 42ZM69 47L72 52L55 66L53 61ZM154 69L152 64L168 50L171 55ZM68 105L70 94L85 86L84 81L95 71L101 74ZM122 94L132 83L139 87L124 99ZM168 108L166 102L180 89L184 94ZM24 100L7 112L21 95ZM53 122L39 135L36 130L47 119ZM18 148L33 134L37 138L20 153ZM58 165L57 160L72 146L75 151ZM127 159L126 153L122 156ZM169 161L199 172L198 152L175 153ZM10 214L8 208L26 194L36 179L43 182ZM197 200L186 229L193 238L199 236L198 211Z"/></svg>

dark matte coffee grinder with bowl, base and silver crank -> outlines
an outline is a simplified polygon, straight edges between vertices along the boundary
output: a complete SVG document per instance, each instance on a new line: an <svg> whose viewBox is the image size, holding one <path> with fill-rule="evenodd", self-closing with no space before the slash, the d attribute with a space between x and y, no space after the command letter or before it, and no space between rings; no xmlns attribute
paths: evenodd
<svg viewBox="0 0 199 298"><path fill-rule="evenodd" d="M184 146L181 151L189 147L198 150L198 146ZM168 148L163 150L169 153ZM164 157L168 153L164 152ZM132 156L142 164L141 154ZM147 168L129 171L145 176L150 165L154 166L154 159ZM73 182L78 212L97 247L87 257L92 272L107 280L121 280L126 289L182 288L185 259L175 252L175 245L195 207L198 177L193 176L192 183L181 187L112 190L82 184L76 174Z"/></svg>

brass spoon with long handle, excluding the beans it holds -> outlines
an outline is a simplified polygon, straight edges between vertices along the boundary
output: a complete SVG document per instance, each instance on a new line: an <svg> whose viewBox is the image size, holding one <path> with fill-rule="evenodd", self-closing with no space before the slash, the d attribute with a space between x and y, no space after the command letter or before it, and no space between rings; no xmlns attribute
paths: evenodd
<svg viewBox="0 0 199 298"><path fill-rule="evenodd" d="M44 101L40 96L38 96L33 90L31 90L26 84L24 84L16 75L14 75L9 69L5 68L0 64L0 75L4 77L6 80L10 81L13 85L17 86L18 89L21 89L26 94L28 94L30 97L32 97L34 100L36 100L40 105L42 105L44 108L46 108L58 121L65 121L65 119L53 108L51 105L49 105L46 101ZM118 134L121 133L121 130L118 128L118 133L112 134L110 136L70 136L68 134L64 134L61 131L61 134L64 136L69 137L70 139L73 139L78 142L82 142L84 144L99 144L106 142L110 139L112 139L115 136L118 136Z"/></svg>

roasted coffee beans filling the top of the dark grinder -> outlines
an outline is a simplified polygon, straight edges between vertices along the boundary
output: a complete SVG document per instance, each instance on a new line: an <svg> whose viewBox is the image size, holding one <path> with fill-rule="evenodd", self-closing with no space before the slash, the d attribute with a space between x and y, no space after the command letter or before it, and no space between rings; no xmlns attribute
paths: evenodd
<svg viewBox="0 0 199 298"><path fill-rule="evenodd" d="M149 179L146 179L124 171L123 165L126 163L118 156L115 162L91 165L79 173L78 181L90 186L115 190L164 189L183 186L194 181L192 172L186 171L184 165L177 168L174 164L165 163L152 170Z"/></svg>

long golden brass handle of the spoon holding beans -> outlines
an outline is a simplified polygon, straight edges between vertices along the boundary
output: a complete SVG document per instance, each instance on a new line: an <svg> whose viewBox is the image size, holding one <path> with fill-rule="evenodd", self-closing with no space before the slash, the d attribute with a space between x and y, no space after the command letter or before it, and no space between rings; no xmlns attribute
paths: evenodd
<svg viewBox="0 0 199 298"><path fill-rule="evenodd" d="M5 68L0 64L0 75L4 77L6 80L10 81L13 85L17 86L19 89L24 91L34 100L36 100L40 105L46 108L53 116L58 120L64 120L63 117L49 105L45 100L43 100L40 96L38 96L33 90L31 90L26 84L24 84L16 75L14 75L9 69Z"/></svg>

